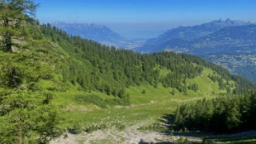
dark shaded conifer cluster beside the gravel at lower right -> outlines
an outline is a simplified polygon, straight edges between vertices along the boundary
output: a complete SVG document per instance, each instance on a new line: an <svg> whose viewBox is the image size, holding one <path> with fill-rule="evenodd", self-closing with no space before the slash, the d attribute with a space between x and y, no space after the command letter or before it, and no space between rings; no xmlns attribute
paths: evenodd
<svg viewBox="0 0 256 144"><path fill-rule="evenodd" d="M171 129L213 133L254 130L255 103L256 95L251 93L183 104L176 109L175 115L170 117Z"/></svg>

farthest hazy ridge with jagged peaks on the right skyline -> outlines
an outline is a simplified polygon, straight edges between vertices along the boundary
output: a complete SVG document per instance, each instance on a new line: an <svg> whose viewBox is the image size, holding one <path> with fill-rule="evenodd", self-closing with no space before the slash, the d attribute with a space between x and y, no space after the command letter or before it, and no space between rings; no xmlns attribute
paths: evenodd
<svg viewBox="0 0 256 144"><path fill-rule="evenodd" d="M175 29L170 29L166 33L163 33L159 37L149 39L145 44L137 48L136 50L144 53L151 53L157 49L160 45L163 45L165 42L172 39L195 39L198 37L205 37L211 33L215 33L220 29L229 27L229 26L239 26L239 25L251 25L252 23L246 21L231 21L229 18L225 21L211 21L204 23L203 25L195 26L179 26Z"/></svg>

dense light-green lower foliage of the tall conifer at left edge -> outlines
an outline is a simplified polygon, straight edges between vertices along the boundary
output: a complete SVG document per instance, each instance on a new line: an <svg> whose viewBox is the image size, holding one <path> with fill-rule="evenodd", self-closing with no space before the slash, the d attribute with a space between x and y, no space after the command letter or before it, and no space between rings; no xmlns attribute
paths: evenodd
<svg viewBox="0 0 256 144"><path fill-rule="evenodd" d="M0 52L0 142L49 142L61 134L53 94L38 83L53 79L48 56Z"/></svg>

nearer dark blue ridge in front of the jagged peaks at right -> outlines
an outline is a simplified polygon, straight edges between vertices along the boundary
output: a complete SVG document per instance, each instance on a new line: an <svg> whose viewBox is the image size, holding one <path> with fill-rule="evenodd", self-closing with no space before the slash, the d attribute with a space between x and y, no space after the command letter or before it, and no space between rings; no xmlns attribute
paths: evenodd
<svg viewBox="0 0 256 144"><path fill-rule="evenodd" d="M211 53L252 52L256 48L256 25L230 26L195 39L171 39L152 52L174 50L206 55Z"/></svg>

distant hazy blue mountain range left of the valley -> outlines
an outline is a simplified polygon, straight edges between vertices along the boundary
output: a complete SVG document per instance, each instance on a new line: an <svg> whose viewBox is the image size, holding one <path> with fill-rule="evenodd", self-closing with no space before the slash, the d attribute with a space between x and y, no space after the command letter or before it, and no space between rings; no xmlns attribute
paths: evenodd
<svg viewBox="0 0 256 144"><path fill-rule="evenodd" d="M65 22L54 22L52 25L65 30L69 34L81 36L93 41L112 42L124 40L124 37L121 37L120 34L113 32L104 25Z"/></svg>

